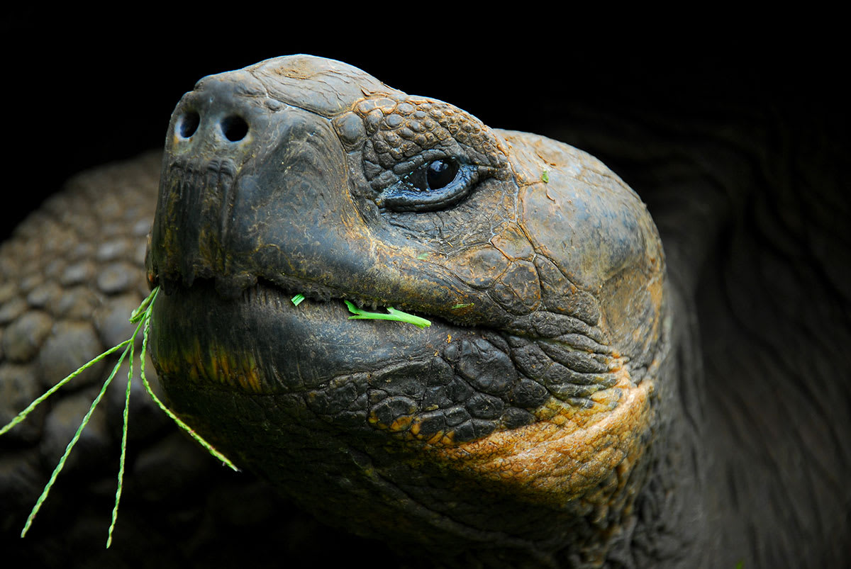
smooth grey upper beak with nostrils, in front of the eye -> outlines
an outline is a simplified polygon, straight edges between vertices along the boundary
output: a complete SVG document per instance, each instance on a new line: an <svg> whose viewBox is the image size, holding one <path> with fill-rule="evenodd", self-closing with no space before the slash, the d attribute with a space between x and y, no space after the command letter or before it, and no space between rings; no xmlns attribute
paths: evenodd
<svg viewBox="0 0 851 569"><path fill-rule="evenodd" d="M167 291L214 278L234 298L261 277L327 294L328 251L360 270L347 253L357 236L334 230L356 225L340 140L327 118L261 87L247 71L207 77L174 111L148 263Z"/></svg>

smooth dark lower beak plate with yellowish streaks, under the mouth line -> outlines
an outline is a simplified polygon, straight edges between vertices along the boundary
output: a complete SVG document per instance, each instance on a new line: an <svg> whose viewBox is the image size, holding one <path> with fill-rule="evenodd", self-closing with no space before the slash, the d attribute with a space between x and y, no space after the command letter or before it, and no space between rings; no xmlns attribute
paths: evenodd
<svg viewBox="0 0 851 569"><path fill-rule="evenodd" d="M218 285L206 279L191 287L173 284L159 295L151 349L168 376L256 393L302 391L431 357L456 333L443 322L420 330L403 322L349 321L340 299L296 306L293 293L263 282L236 298L218 293Z"/></svg>

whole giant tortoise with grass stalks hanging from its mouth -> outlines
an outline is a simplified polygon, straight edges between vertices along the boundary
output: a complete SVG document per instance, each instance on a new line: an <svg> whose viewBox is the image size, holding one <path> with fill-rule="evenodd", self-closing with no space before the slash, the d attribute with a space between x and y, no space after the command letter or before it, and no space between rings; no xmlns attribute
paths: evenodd
<svg viewBox="0 0 851 569"><path fill-rule="evenodd" d="M197 83L163 158L83 174L27 219L0 255L3 422L123 339L156 284L151 356L171 406L299 507L217 469L136 395L116 552L72 549L108 566L162 566L153 548L244 562L262 543L315 561L328 541L403 566L847 562L835 162L811 174L788 151L778 172L748 162L766 141L717 125L635 147L606 117L576 118L599 126L564 138L639 163L639 194L573 146L349 65L266 60ZM344 300L431 327L349 321ZM73 483L84 520L109 508L86 461L113 448L120 396L55 514L7 540L104 369L0 441L9 551L59 564L51 534L106 527L61 516L80 507Z"/></svg>

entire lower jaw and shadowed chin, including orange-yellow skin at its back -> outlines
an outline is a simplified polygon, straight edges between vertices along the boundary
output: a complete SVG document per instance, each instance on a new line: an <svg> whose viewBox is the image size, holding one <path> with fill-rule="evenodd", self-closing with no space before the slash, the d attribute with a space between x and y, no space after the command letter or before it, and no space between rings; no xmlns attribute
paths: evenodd
<svg viewBox="0 0 851 569"><path fill-rule="evenodd" d="M631 506L653 382L633 384L626 367L570 406L511 375L496 333L348 321L339 302L294 307L266 287L228 300L197 285L154 309L152 357L174 411L319 515L460 546L488 532L548 541L549 525L528 536L540 520L523 517L540 506L570 527ZM506 507L517 515L498 515Z"/></svg>

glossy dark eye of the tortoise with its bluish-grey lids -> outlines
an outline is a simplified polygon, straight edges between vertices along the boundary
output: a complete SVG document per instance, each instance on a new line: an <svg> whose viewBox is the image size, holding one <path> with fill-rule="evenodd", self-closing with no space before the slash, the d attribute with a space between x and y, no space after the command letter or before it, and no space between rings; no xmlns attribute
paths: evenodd
<svg viewBox="0 0 851 569"><path fill-rule="evenodd" d="M426 212L460 202L476 184L478 168L458 158L438 158L387 187L379 205L393 211Z"/></svg>

